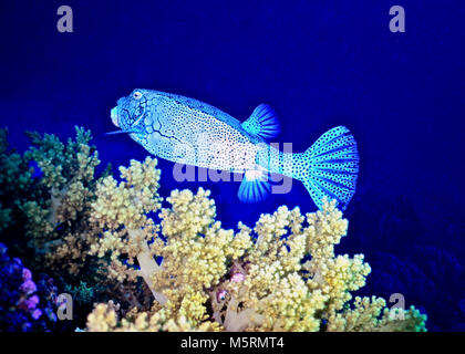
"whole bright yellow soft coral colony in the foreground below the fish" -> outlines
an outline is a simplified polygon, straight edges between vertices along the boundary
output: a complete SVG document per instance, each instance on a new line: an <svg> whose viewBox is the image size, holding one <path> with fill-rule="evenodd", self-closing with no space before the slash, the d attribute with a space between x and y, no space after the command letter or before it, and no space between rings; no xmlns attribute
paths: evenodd
<svg viewBox="0 0 465 354"><path fill-rule="evenodd" d="M155 304L121 321L113 306L99 304L87 319L90 331L424 330L415 309L402 321L391 319L382 299L356 298L350 309L351 292L364 285L370 267L362 254L334 254L348 229L334 202L306 216L280 207L262 215L254 230L239 223L235 233L215 220L209 191L174 190L170 207L158 214L158 230L146 217L159 209L154 167L149 158L132 162L121 169L127 181L107 177L97 187L93 215L106 231L92 250L111 253L115 279L142 277ZM127 176L136 177L131 183ZM140 270L130 267L135 259Z"/></svg>

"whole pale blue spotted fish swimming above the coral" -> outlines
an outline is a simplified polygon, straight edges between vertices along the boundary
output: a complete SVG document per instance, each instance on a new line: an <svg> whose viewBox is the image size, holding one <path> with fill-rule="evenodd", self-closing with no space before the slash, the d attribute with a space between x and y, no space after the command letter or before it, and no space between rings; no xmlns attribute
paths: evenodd
<svg viewBox="0 0 465 354"><path fill-rule="evenodd" d="M359 154L344 126L324 133L304 153L268 144L280 131L273 110L260 104L244 123L200 101L152 90L134 90L117 101L111 118L151 154L198 167L244 173L238 197L256 202L270 191L269 174L303 183L318 207L323 197L345 208L355 192Z"/></svg>

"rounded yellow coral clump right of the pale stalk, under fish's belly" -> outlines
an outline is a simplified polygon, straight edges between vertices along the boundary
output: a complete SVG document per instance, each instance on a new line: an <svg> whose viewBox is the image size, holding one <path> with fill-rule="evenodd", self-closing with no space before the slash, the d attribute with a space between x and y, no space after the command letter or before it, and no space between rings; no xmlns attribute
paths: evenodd
<svg viewBox="0 0 465 354"><path fill-rule="evenodd" d="M173 207L161 214L167 241L158 250L163 264L161 271L153 274L153 282L166 289L164 292L176 304L187 290L205 291L217 284L227 273L228 264L251 246L248 235L235 236L232 230L220 228L220 222L215 221L215 205L208 196L209 191L202 188L197 195L175 190L167 198Z"/></svg>

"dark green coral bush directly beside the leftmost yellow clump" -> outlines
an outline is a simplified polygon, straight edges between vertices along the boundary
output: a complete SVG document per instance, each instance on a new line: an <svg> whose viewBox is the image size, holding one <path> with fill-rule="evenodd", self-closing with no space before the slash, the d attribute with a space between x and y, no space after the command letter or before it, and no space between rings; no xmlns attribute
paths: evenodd
<svg viewBox="0 0 465 354"><path fill-rule="evenodd" d="M42 176L35 188L42 199L22 206L28 217L27 233L45 253L51 267L69 267L76 274L84 264L86 244L96 237L89 228L90 202L94 199L94 170L100 164L90 132L76 127L76 139L61 143L54 135L28 134L32 147L24 158L34 162Z"/></svg>

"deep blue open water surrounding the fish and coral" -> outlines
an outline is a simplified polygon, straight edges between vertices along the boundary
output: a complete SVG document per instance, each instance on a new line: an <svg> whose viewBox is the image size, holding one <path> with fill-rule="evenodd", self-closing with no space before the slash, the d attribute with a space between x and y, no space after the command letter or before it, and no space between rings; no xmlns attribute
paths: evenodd
<svg viewBox="0 0 465 354"><path fill-rule="evenodd" d="M71 6L74 32L59 33ZM391 33L401 4L406 32ZM431 330L465 330L463 206L465 2L463 1L1 1L1 125L93 132L113 166L147 153L113 131L110 108L135 87L183 94L245 119L259 103L279 114L294 150L345 125L361 155L358 192L339 252L372 264L366 293L401 292ZM303 186L242 205L237 183L208 187L226 227L252 225L280 205L314 210Z"/></svg>

